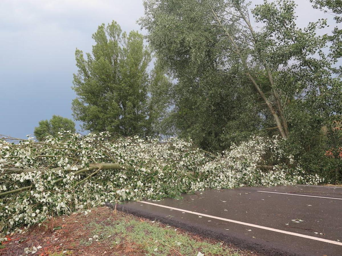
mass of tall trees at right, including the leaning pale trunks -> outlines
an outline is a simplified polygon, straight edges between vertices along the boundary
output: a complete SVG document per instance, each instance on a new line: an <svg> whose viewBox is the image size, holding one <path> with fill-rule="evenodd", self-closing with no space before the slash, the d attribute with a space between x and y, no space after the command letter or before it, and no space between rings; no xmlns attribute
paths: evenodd
<svg viewBox="0 0 342 256"><path fill-rule="evenodd" d="M265 1L254 9L244 0L147 0L144 5L140 24L178 81L171 125L179 134L190 130L195 140L210 134L215 139L202 146L213 149L218 140L224 148L230 138L238 139L239 129L240 135L279 134L308 171L340 179L341 161L326 156L341 144L335 128L342 114L341 78L334 75L337 46L331 35L317 35L326 20L298 28L290 0Z"/></svg>

